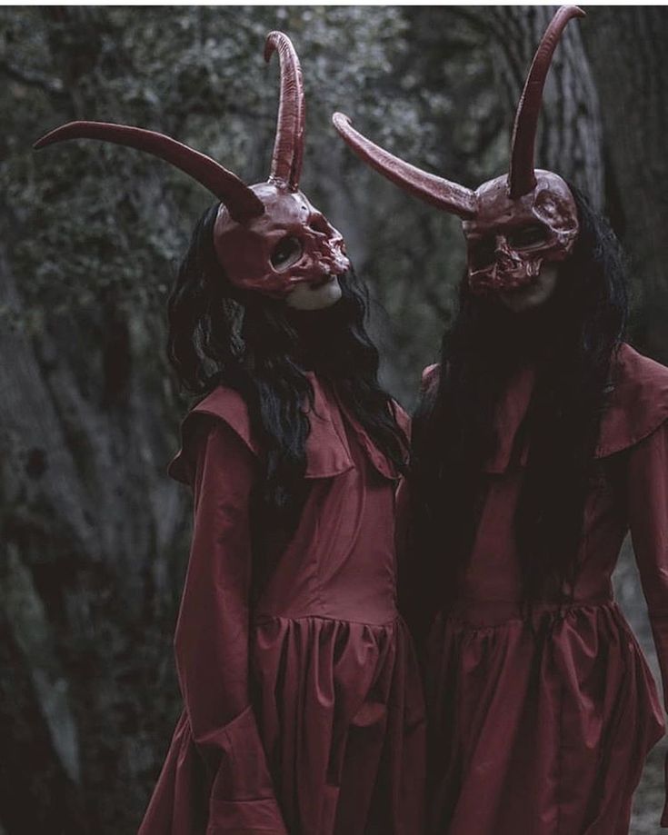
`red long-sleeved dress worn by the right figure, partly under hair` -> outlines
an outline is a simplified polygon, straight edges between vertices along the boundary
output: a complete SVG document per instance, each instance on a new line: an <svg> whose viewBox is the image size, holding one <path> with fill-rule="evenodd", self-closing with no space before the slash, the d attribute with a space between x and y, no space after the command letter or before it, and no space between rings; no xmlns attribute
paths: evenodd
<svg viewBox="0 0 668 835"><path fill-rule="evenodd" d="M663 711L611 574L631 529L668 681L668 369L623 345L587 500L574 602L518 607L513 515L526 449L515 444L533 373L497 413L500 441L458 599L430 636L434 835L625 835ZM663 825L668 825L664 812Z"/></svg>

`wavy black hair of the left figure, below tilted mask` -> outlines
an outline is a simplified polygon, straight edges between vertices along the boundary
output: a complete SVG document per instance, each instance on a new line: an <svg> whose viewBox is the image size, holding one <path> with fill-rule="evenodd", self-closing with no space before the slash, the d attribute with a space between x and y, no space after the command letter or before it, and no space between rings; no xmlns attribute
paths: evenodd
<svg viewBox="0 0 668 835"><path fill-rule="evenodd" d="M323 311L234 287L214 251L218 206L195 225L168 302L167 354L185 391L224 384L239 392L263 449L261 504L269 527L291 530L304 492L306 411L314 391L306 370L327 377L376 446L405 471L407 439L394 402L378 383L378 352L365 329L368 296L350 270L342 298ZM275 529L274 529L275 532Z"/></svg>

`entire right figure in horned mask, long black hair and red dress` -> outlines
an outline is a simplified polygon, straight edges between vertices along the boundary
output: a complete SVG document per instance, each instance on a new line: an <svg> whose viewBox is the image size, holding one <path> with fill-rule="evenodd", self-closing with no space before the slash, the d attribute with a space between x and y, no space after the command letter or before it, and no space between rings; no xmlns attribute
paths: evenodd
<svg viewBox="0 0 668 835"><path fill-rule="evenodd" d="M464 222L459 311L424 374L408 482L405 600L429 682L434 835L623 835L663 734L611 575L630 530L665 690L668 369L623 343L609 227L533 168L545 75L580 15L553 18L510 173L475 191L335 117L367 162Z"/></svg>

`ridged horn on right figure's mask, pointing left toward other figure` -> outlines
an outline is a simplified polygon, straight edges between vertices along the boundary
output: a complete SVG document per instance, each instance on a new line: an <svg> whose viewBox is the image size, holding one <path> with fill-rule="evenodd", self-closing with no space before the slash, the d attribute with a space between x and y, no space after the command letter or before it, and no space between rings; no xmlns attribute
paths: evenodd
<svg viewBox="0 0 668 835"><path fill-rule="evenodd" d="M477 202L470 188L451 183L435 174L427 174L415 168L414 165L404 163L404 160L399 159L398 156L384 151L383 148L359 134L350 123L348 116L343 113L335 113L332 121L336 130L355 154L394 184L450 214L470 218L476 213Z"/></svg>

